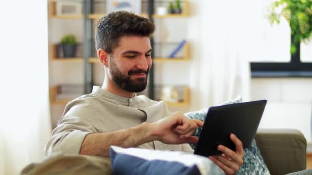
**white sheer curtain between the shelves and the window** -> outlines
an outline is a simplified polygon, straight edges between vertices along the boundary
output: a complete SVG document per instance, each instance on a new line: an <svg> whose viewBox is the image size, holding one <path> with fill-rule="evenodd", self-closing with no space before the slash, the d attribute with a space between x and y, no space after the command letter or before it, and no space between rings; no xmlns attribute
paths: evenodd
<svg viewBox="0 0 312 175"><path fill-rule="evenodd" d="M199 98L201 108L217 105L241 95L250 100L250 65L253 41L262 14L258 1L193 1L198 6L201 40ZM261 1L260 1L261 3ZM195 99L194 99L195 100Z"/></svg>

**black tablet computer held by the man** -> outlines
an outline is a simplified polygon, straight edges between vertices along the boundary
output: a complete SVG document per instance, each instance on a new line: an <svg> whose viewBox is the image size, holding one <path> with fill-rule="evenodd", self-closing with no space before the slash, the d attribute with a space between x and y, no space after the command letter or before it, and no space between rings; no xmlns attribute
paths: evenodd
<svg viewBox="0 0 312 175"><path fill-rule="evenodd" d="M210 107L194 154L220 155L222 152L217 150L220 144L235 151L231 133L242 141L244 149L250 147L265 105L266 100L259 100Z"/></svg>

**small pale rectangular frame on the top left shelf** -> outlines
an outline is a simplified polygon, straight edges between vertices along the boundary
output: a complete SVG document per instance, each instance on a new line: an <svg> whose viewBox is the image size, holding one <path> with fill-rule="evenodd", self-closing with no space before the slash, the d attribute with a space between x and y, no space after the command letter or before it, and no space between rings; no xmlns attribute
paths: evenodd
<svg viewBox="0 0 312 175"><path fill-rule="evenodd" d="M81 2L57 1L56 14L58 16L81 15L82 4Z"/></svg>

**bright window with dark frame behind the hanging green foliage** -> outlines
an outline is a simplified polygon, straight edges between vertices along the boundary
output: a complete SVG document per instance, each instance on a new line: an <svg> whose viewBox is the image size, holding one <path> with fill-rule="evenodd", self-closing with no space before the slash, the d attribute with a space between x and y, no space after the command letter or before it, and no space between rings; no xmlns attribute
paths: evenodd
<svg viewBox="0 0 312 175"><path fill-rule="evenodd" d="M290 55L290 27L286 19L271 25L267 18L268 7L274 0L264 0L258 47L251 58L252 77L312 77L312 41L301 43L299 53ZM260 22L260 23L261 23Z"/></svg>

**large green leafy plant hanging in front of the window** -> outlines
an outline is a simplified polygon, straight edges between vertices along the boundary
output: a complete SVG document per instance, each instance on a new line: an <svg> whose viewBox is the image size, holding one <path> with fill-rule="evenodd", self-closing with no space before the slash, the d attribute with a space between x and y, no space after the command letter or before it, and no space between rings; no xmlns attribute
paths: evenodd
<svg viewBox="0 0 312 175"><path fill-rule="evenodd" d="M296 45L301 41L309 41L312 34L312 1L311 0L279 0L272 3L269 19L272 24L280 23L284 17L291 28L290 53L296 52Z"/></svg>

